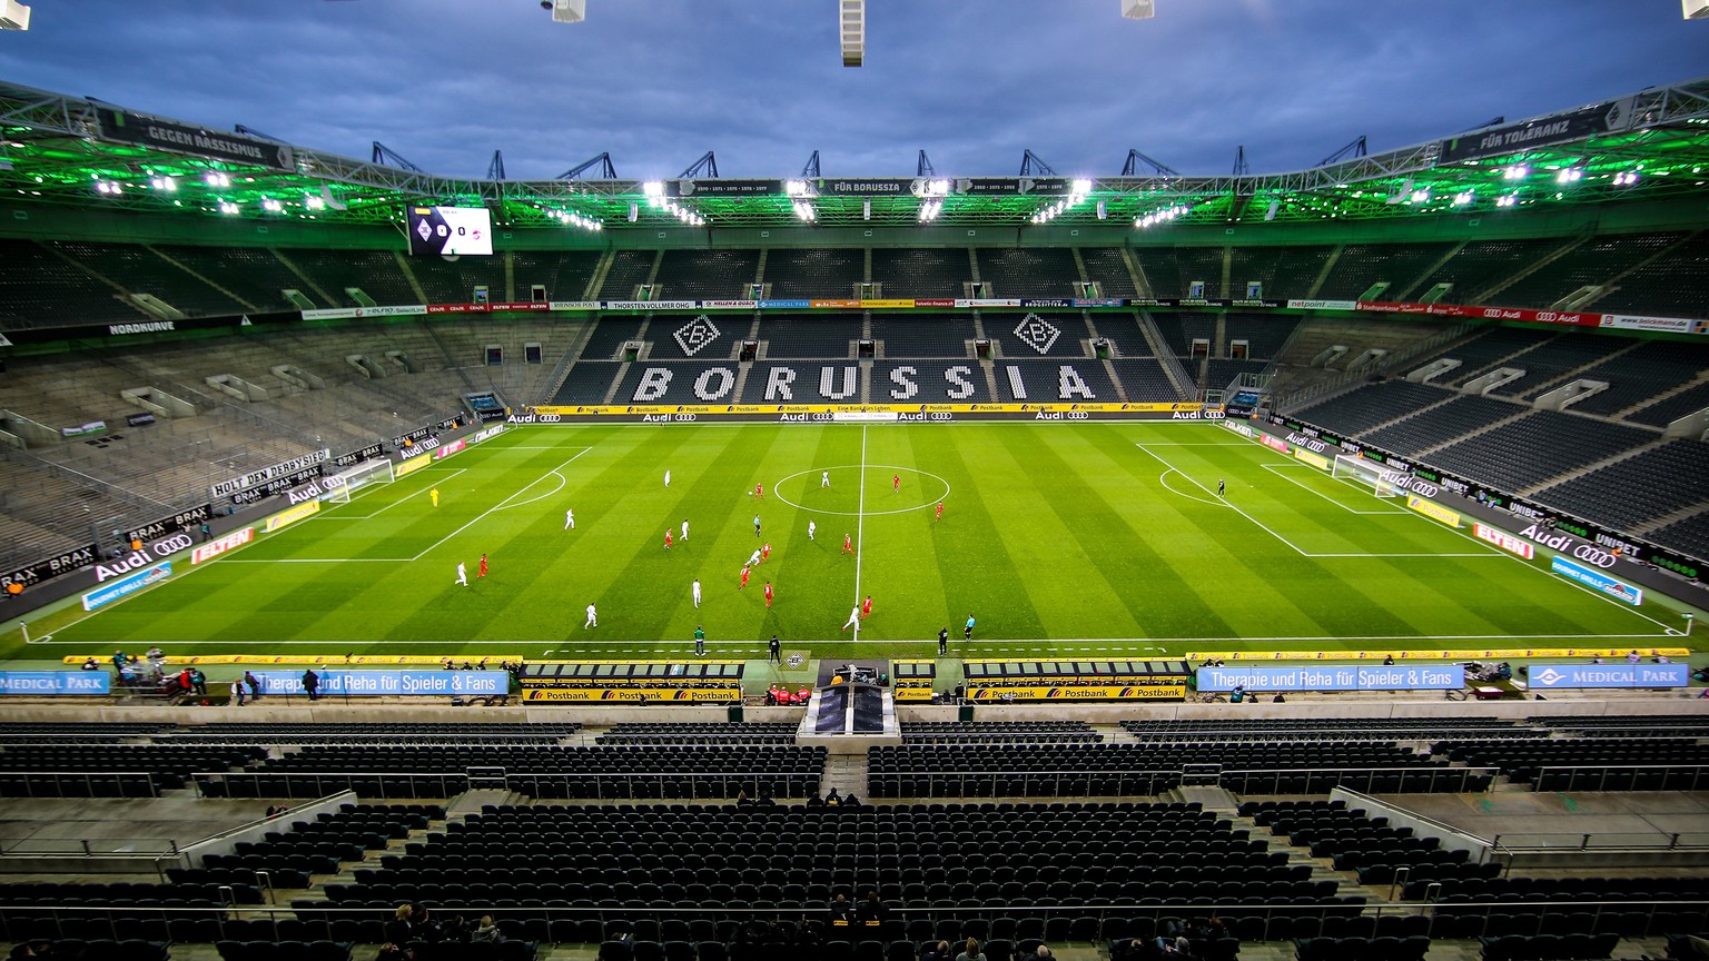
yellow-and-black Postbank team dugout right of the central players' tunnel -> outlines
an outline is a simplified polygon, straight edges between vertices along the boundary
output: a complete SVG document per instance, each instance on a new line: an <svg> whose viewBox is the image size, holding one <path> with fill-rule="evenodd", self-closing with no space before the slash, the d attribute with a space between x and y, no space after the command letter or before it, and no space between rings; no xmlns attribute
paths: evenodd
<svg viewBox="0 0 1709 961"><path fill-rule="evenodd" d="M967 660L974 701L1181 701L1184 660Z"/></svg>

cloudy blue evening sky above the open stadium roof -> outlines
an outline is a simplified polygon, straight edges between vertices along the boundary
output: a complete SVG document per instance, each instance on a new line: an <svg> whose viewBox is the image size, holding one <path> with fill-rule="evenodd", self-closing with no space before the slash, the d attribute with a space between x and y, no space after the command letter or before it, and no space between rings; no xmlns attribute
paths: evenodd
<svg viewBox="0 0 1709 961"><path fill-rule="evenodd" d="M844 68L834 0L32 0L0 79L439 174L624 178L1188 174L1313 166L1709 74L1678 0L868 0Z"/></svg>

